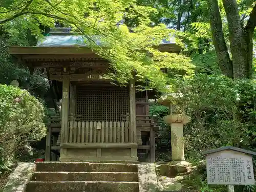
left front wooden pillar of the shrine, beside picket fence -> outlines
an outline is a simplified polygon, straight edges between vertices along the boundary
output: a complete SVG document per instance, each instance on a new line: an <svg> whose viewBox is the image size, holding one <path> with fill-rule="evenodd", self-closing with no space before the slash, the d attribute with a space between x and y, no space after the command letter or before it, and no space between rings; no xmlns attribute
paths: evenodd
<svg viewBox="0 0 256 192"><path fill-rule="evenodd" d="M62 81L62 102L61 102L61 143L67 143L69 123L69 75L63 75Z"/></svg>

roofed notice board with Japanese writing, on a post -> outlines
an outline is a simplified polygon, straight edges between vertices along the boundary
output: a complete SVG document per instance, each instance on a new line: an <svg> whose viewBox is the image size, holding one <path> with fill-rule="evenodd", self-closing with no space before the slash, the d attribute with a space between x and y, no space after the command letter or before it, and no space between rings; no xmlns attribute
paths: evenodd
<svg viewBox="0 0 256 192"><path fill-rule="evenodd" d="M209 185L228 185L228 192L234 192L234 185L254 185L252 155L255 152L226 146L202 154L206 156Z"/></svg>

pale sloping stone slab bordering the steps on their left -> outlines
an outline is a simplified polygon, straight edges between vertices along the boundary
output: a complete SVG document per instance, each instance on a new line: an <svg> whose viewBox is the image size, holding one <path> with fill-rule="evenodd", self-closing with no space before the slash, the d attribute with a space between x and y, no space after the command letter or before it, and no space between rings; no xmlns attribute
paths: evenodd
<svg viewBox="0 0 256 192"><path fill-rule="evenodd" d="M34 170L34 163L19 163L9 176L3 192L24 192L26 183L30 181Z"/></svg>

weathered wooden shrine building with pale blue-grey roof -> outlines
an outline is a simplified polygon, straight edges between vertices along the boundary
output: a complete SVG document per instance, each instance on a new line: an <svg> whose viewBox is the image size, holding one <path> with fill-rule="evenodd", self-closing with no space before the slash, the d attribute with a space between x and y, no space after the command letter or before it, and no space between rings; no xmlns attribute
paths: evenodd
<svg viewBox="0 0 256 192"><path fill-rule="evenodd" d="M31 71L47 71L61 104L46 138L46 161L155 161L155 132L149 115L148 92L136 92L136 81L118 87L102 76L109 62L80 45L81 36L52 33L35 47L9 47L9 52ZM159 49L180 52L172 42ZM53 154L50 156L50 154ZM56 155L57 154L57 155Z"/></svg>

